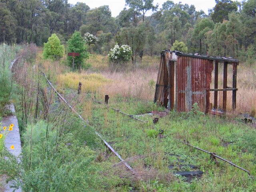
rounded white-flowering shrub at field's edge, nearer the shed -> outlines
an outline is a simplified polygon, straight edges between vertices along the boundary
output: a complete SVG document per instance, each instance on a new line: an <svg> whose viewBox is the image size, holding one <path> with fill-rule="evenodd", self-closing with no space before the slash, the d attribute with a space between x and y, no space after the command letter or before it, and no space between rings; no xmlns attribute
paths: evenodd
<svg viewBox="0 0 256 192"><path fill-rule="evenodd" d="M108 58L113 62L127 62L130 60L132 51L129 45L119 46L116 44L113 49L110 49Z"/></svg>

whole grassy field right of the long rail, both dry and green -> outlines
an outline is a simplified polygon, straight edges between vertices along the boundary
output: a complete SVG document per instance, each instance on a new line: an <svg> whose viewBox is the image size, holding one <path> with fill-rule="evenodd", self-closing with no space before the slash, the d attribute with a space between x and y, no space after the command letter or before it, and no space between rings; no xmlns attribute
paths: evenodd
<svg viewBox="0 0 256 192"><path fill-rule="evenodd" d="M254 191L256 182L251 180L246 172L220 160L218 167L210 160L209 154L179 142L186 140L194 146L216 152L217 155L250 170L252 176L256 176L256 153L252 147L249 147L255 144L253 139L255 131L252 126L232 117L176 112L170 112L168 116L160 118L158 124L153 124L154 116L140 116L146 121L142 123L123 116L105 105L94 103L92 102L94 96L102 101L104 95L108 94L109 105L128 114L162 110L152 102L158 61L154 60L152 64L150 58L146 58L145 62L139 63L136 67L128 64L129 70L113 71L108 68L107 63L99 62L102 57L99 55L91 57L88 62L92 64L92 68L81 73L68 72L61 62L56 63L60 65L58 70L54 70L51 64L44 66L50 69L49 75L58 89L62 90L64 97L72 102L84 118L89 119L90 124L122 158L143 155L142 158L129 164L135 170L148 172L150 176L135 183L124 179L122 183L112 186L112 190L109 191ZM246 94L255 91L249 85L253 81L250 77L255 74L248 72L247 82L242 82L247 69L244 70L245 72L238 71L238 82L241 81L238 90L242 90L244 86L244 95L247 96ZM84 82L82 82L82 94L78 96L76 91L79 81ZM251 98L250 104L252 104L254 95L248 97ZM221 103L221 100L219 101ZM237 101L238 106L241 101ZM243 110L244 107L246 106L242 105L239 110ZM250 142L246 143L248 136L251 136ZM80 138L79 132L76 137ZM98 154L95 161L110 164L119 162L116 156L108 154L106 148L95 148L95 150ZM190 168L190 165L197 168ZM175 168L170 169L169 166ZM204 172L202 178L194 178L189 183L184 178L173 175L177 171L192 170L202 170Z"/></svg>

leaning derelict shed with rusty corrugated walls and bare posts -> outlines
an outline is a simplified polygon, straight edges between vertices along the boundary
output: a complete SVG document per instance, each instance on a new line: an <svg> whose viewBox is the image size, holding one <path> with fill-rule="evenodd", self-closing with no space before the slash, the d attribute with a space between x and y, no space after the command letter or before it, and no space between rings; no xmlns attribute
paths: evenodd
<svg viewBox="0 0 256 192"><path fill-rule="evenodd" d="M224 63L223 88L218 88L218 67ZM233 66L232 87L227 86L228 64ZM217 110L218 92L223 92L223 110L226 111L227 91L232 91L232 108L236 108L236 76L238 60L165 50L161 52L154 102L174 110L174 86L176 86L176 111L188 112L198 103L204 113ZM215 65L215 67L214 67ZM214 89L210 88L212 70ZM174 85L176 77L176 85ZM214 106L210 103L210 92L214 92Z"/></svg>

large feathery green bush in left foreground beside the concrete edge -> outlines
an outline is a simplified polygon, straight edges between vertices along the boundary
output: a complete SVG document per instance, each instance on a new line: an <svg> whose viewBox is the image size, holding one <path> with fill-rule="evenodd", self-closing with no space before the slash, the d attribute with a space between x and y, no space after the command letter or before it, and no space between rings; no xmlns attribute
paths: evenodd
<svg viewBox="0 0 256 192"><path fill-rule="evenodd" d="M46 138L47 124L29 125L22 136L22 162L6 150L1 152L0 174L14 178L22 191L108 191L118 178L110 176L108 163L96 163L94 151L76 140L72 133L56 137L51 130ZM13 171L15 168L15 172ZM102 176L105 170L109 176ZM22 183L20 183L22 179ZM104 184L107 184L104 186Z"/></svg>

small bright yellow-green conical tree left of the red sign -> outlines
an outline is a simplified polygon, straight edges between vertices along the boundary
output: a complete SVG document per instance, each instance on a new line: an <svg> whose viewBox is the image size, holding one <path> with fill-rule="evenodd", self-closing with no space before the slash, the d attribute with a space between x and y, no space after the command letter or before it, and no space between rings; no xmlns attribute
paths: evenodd
<svg viewBox="0 0 256 192"><path fill-rule="evenodd" d="M44 43L43 57L58 60L64 56L64 45L60 44L60 39L54 33L48 38L48 42Z"/></svg>

